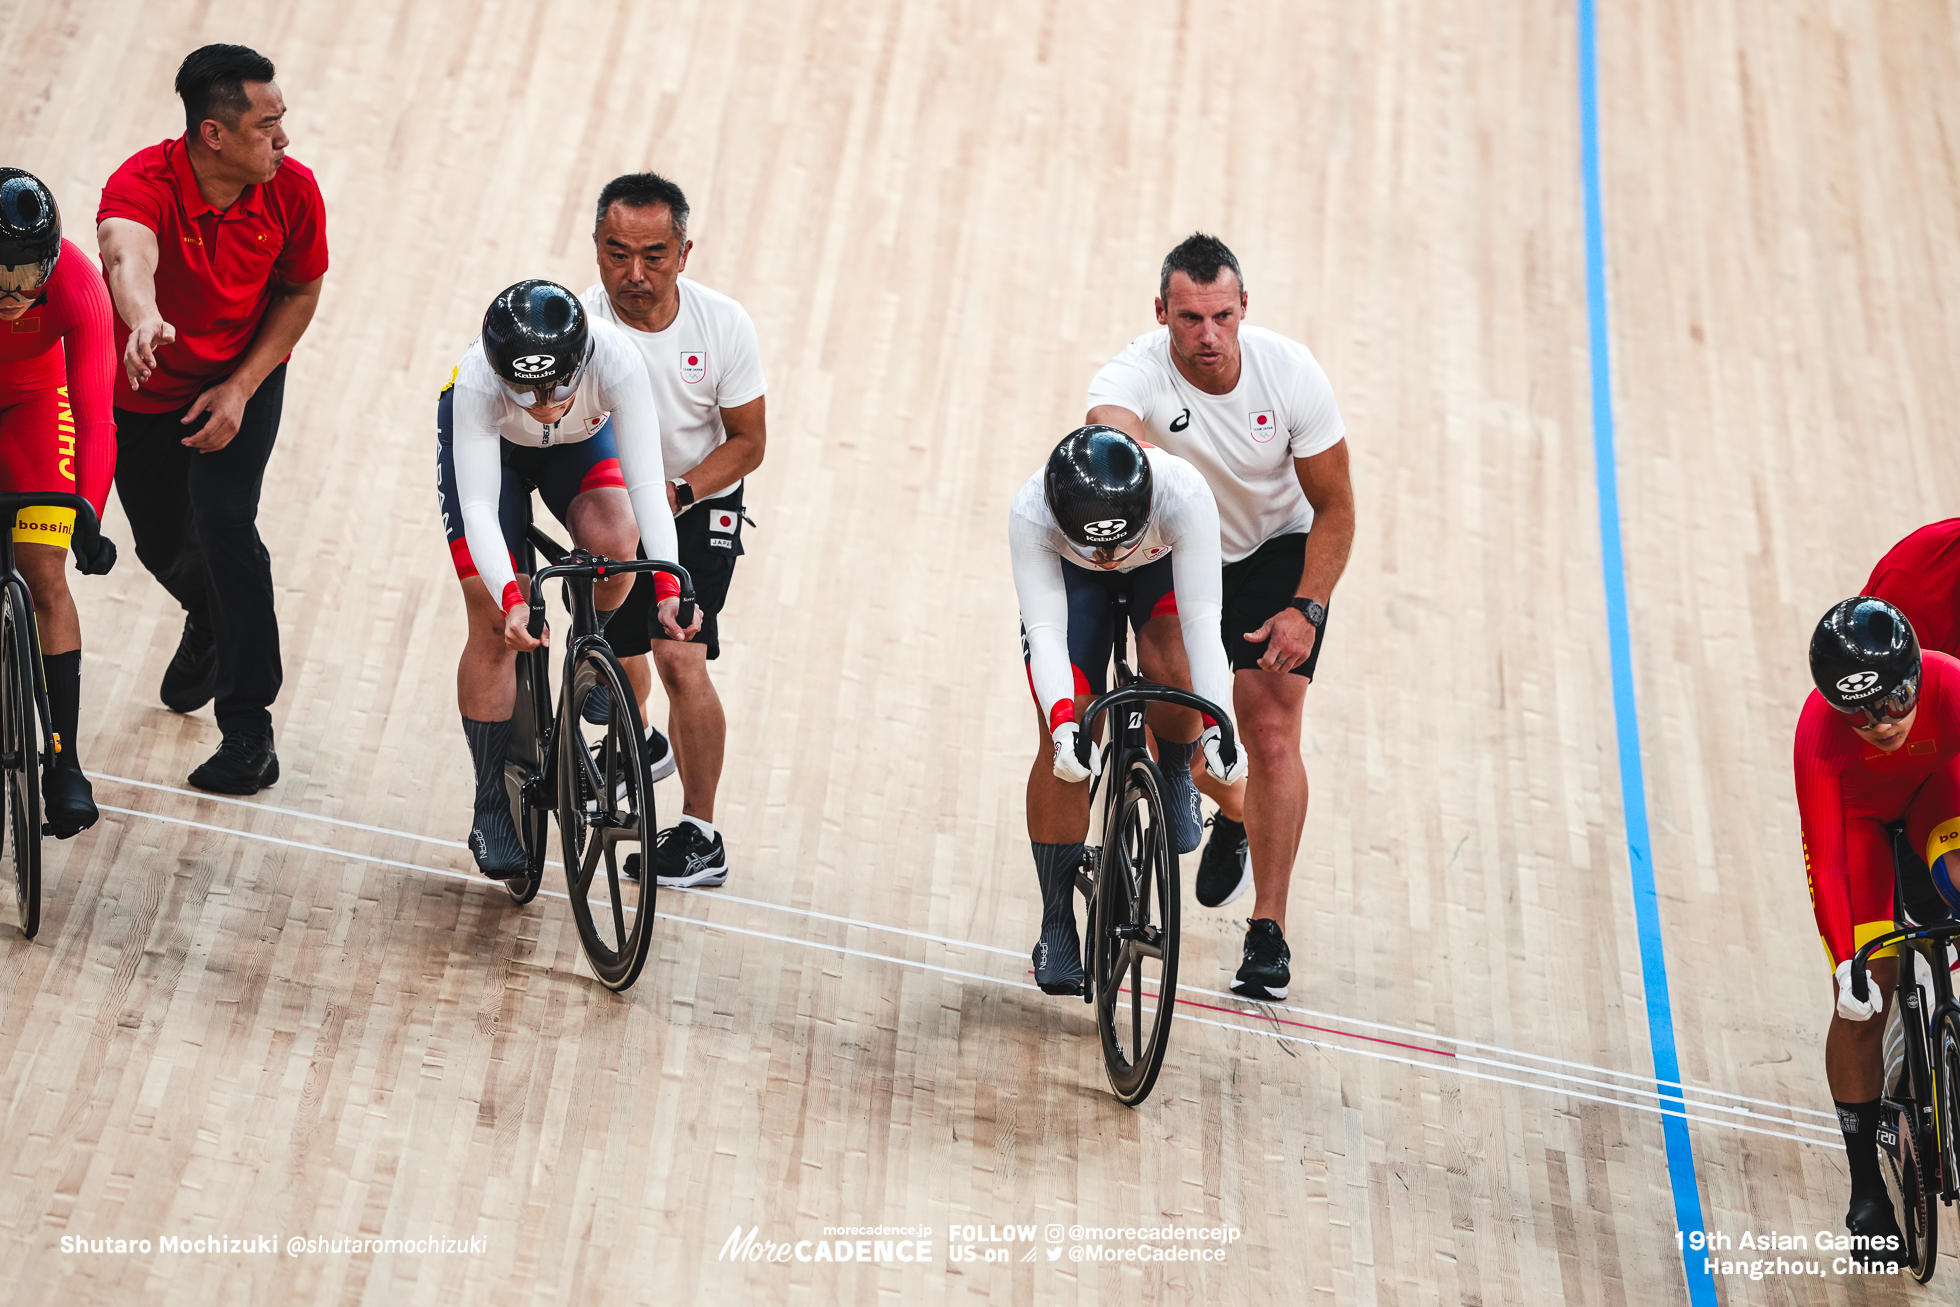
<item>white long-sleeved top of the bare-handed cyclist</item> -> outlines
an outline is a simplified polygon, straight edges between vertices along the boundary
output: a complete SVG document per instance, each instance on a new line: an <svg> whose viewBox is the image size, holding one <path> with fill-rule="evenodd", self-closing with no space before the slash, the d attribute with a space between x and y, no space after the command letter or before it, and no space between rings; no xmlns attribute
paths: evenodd
<svg viewBox="0 0 1960 1307"><path fill-rule="evenodd" d="M525 413L484 357L482 339L470 341L457 364L451 402L451 453L457 460L457 500L463 504L463 535L476 560L476 572L500 604L504 586L517 580L510 570L510 547L498 523L504 490L502 441L545 449L590 441L612 417L619 476L633 498L633 517L647 557L662 562L678 558L674 515L666 511L666 476L661 462L661 413L647 386L647 368L610 321L592 321L592 363L578 382L572 408L549 427Z"/></svg>

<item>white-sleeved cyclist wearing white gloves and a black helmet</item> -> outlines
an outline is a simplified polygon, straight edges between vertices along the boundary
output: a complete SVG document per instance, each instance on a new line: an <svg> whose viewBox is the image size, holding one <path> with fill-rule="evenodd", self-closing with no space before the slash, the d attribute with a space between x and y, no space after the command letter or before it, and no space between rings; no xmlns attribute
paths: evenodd
<svg viewBox="0 0 1960 1307"><path fill-rule="evenodd" d="M1080 782L1090 772L1076 758L1076 713L1086 696L1107 688L1109 600L1119 592L1129 598L1145 678L1196 686L1221 709L1231 702L1219 641L1219 517L1203 476L1182 459L1147 451L1109 427L1082 427L1021 486L1007 515L1007 547L1041 717L1041 747L1027 774L1027 837L1043 905L1035 982L1047 993L1080 993L1074 872L1090 819ZM1201 831L1192 752L1203 749L1205 768L1227 784L1245 774L1245 752L1227 768L1219 727L1186 707L1154 703L1149 723L1162 760L1164 815L1178 852L1190 852Z"/></svg>

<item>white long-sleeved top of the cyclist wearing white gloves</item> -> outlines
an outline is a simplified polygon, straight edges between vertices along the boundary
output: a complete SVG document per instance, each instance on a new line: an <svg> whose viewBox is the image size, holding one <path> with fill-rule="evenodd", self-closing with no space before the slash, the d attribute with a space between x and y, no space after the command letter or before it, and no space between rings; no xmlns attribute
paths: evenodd
<svg viewBox="0 0 1960 1307"><path fill-rule="evenodd" d="M1192 664L1192 688L1231 711L1231 664L1219 637L1225 578L1219 562L1219 511L1211 488L1184 459L1162 449L1147 449L1151 459L1151 527L1137 549L1117 564L1129 572L1170 555L1170 578L1178 594L1178 629L1184 656ZM1054 523L1041 494L1041 472L1027 478L1007 509L1007 553L1013 557L1013 592L1021 602L1027 631L1029 676L1049 725L1072 721L1076 678L1068 670L1068 590L1062 568L1098 568L1076 558L1068 537ZM1082 668L1088 672L1088 668ZM1054 715L1058 703L1070 713Z"/></svg>

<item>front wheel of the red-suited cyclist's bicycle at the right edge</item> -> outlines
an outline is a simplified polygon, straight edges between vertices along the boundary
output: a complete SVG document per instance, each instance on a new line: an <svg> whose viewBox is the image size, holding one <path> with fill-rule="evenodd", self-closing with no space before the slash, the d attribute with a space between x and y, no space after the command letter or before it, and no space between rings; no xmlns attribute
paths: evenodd
<svg viewBox="0 0 1960 1307"><path fill-rule="evenodd" d="M1923 993L1907 970L1921 958L1913 950L1901 950L1899 960L1897 997L1886 1013L1886 1093L1878 1103L1878 1170L1886 1182L1886 1197L1899 1217L1899 1233L1905 1236L1899 1264L1913 1280L1925 1283L1938 1260L1940 1234L1938 1154L1931 1148L1933 1131L1925 1127L1921 1113L1921 1105L1931 1101L1933 1076L1925 1046Z"/></svg>

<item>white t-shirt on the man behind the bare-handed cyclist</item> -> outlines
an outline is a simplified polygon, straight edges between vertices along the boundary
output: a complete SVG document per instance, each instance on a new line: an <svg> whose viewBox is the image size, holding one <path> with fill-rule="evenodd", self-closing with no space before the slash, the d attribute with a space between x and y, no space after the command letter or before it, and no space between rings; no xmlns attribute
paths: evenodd
<svg viewBox="0 0 1960 1307"><path fill-rule="evenodd" d="M661 449L674 476L686 476L702 459L729 439L721 410L741 408L762 396L762 349L755 339L749 312L719 290L682 276L680 312L664 331L641 331L619 321L606 286L586 286L578 296L592 317L619 327L647 361L653 402L661 410ZM741 482L713 498L735 494Z"/></svg>

